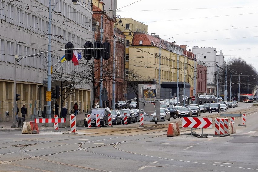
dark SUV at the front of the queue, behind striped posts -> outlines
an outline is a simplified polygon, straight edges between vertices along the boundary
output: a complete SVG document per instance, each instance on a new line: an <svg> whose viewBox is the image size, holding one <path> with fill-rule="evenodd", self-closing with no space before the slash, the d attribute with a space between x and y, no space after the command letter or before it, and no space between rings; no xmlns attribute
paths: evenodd
<svg viewBox="0 0 258 172"><path fill-rule="evenodd" d="M108 114L111 114L111 111L109 108L92 108L90 109L90 111L88 112L88 114L85 114L85 118L84 118L84 125L85 127L88 127L88 119L87 119L87 115L91 115L91 125L97 125L97 121L96 121L96 115L99 114L100 117L100 125L103 127L106 127L106 125L108 125Z"/></svg>

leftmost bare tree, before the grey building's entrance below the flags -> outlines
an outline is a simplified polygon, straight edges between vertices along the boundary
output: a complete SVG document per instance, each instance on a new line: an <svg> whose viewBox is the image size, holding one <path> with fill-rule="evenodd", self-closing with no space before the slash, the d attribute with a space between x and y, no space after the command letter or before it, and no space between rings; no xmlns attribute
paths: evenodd
<svg viewBox="0 0 258 172"><path fill-rule="evenodd" d="M76 85L79 84L78 80L74 79L73 72L65 73L64 68L59 67L57 65L52 65L53 74L52 74L52 83L56 83L55 85L59 85L60 90L56 90L57 92L60 91L60 110L64 105L65 100L74 95L74 91ZM61 111L60 111L61 114Z"/></svg>

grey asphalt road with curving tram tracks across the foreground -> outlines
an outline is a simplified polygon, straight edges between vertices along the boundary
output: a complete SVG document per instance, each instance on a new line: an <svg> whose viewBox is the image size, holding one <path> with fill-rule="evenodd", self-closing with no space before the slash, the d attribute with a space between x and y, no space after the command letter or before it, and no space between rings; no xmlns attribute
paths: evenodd
<svg viewBox="0 0 258 172"><path fill-rule="evenodd" d="M258 171L258 113L250 105L240 103L239 107L229 109L229 113L248 111L247 126L236 125L235 134L220 138L190 138L184 133L167 137L166 131L144 131L145 127L139 128L139 124L93 130L81 127L79 131L84 134L78 135L3 131L0 171ZM207 115L210 114L202 113L201 117ZM182 119L158 124L176 120ZM210 130L214 132L214 127Z"/></svg>

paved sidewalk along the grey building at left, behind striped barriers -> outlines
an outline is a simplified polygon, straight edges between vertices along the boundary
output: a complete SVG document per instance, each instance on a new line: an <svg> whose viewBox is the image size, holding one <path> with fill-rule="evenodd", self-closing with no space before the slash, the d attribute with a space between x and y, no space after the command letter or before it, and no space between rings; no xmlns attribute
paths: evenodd
<svg viewBox="0 0 258 172"><path fill-rule="evenodd" d="M77 114L76 120L84 120L86 113L80 113ZM70 121L70 115L66 116L66 120ZM26 119L26 122L30 121L30 119ZM0 122L0 131L22 131L22 128L12 128L13 121L8 122ZM16 122L16 127L18 126L18 123Z"/></svg>

